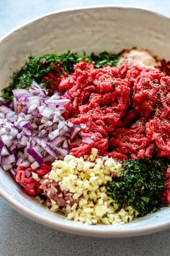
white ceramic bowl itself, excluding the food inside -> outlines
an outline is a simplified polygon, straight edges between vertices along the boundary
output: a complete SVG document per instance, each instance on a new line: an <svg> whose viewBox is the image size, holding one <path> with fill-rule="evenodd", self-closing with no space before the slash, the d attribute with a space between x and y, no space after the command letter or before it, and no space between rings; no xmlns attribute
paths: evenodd
<svg viewBox="0 0 170 256"><path fill-rule="evenodd" d="M120 51L133 46L148 48L170 59L170 19L143 9L94 7L55 12L19 27L0 42L0 88L28 56L67 51ZM67 221L39 205L3 171L0 195L19 213L54 229L88 236L138 236L170 227L170 208L124 226L87 226Z"/></svg>

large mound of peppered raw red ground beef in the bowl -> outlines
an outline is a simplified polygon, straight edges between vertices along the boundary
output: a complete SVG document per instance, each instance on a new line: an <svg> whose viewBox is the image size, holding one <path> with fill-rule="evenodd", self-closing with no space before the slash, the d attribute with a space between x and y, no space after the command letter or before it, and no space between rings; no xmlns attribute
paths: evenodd
<svg viewBox="0 0 170 256"><path fill-rule="evenodd" d="M80 157L97 148L117 159L170 158L170 77L156 68L96 69L81 61L63 78L59 90L70 98L65 118L86 124L81 142L71 145Z"/></svg>

